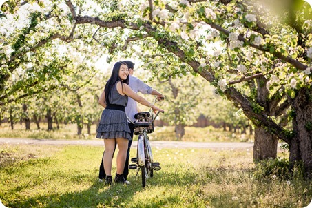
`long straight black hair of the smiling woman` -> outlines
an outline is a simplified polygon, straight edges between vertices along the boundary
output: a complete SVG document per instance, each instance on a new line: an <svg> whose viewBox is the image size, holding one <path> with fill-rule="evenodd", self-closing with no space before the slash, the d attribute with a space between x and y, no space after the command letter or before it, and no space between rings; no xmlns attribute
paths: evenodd
<svg viewBox="0 0 312 208"><path fill-rule="evenodd" d="M121 65L127 65L127 64L123 61L116 62L112 70L112 75L110 76L110 79L108 79L105 85L105 101L107 105L110 104L110 99L109 99L110 92L112 91L112 87L114 87L117 81L121 81L121 86L123 86L123 83L126 83L129 85L129 76L127 76L127 79L125 79L124 81L121 80L121 78L119 77L119 70L121 69Z"/></svg>

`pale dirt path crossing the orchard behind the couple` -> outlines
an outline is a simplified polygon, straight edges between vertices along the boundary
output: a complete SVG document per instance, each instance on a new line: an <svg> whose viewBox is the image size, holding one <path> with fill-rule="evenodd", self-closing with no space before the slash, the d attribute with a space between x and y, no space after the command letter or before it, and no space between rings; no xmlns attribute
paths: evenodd
<svg viewBox="0 0 312 208"><path fill-rule="evenodd" d="M253 143L203 143L184 141L150 141L152 147L158 148L207 148L207 149L253 149ZM0 144L17 145L92 145L103 146L101 139L92 140L54 140L54 139L30 139L30 138L0 138ZM136 147L136 141L132 143Z"/></svg>

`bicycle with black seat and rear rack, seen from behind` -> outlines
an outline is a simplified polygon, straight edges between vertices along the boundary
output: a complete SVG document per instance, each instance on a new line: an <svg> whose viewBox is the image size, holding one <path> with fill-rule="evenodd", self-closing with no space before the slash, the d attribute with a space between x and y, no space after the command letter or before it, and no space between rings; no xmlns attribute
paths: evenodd
<svg viewBox="0 0 312 208"><path fill-rule="evenodd" d="M156 101L157 98L155 98L154 103ZM147 178L154 176L154 170L158 171L161 169L160 163L153 160L152 148L149 143L149 137L147 136L147 134L154 132L154 121L159 113L160 111L154 117L154 113L150 109L149 112L138 112L135 114L135 122L128 118L129 122L134 124L134 134L138 135L136 158L131 158L131 162L136 164L130 164L129 169L137 169L136 176L138 176L138 172L141 170L142 187L145 187Z"/></svg>

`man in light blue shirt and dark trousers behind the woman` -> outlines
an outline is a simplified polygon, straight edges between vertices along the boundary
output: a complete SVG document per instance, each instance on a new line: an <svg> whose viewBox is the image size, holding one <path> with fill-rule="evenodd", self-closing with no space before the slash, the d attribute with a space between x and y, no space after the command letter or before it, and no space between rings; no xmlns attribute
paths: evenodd
<svg viewBox="0 0 312 208"><path fill-rule="evenodd" d="M141 92L142 94L152 94L156 95L158 99L163 98L163 94L158 92L157 90L152 89L152 87L149 87L149 85L143 83L140 79L136 78L133 76L134 73L134 63L132 61L123 61L123 63L126 63L128 65L129 69L129 86L132 88L132 90L136 93ZM125 113L127 116L132 120L136 121L134 118L134 115L138 112L138 107L136 101L134 101L132 98L128 98L128 104L127 107L125 107ZM133 141L133 135L134 135L134 125L132 123L128 123L129 128L131 130L131 138L132 140L129 141L128 143L128 150L127 150L127 158L125 160L125 168L123 169L123 178L125 178L126 182L127 181L127 175L129 174L129 157L130 157L130 147L132 145ZM104 156L103 152L103 156ZM99 181L102 182L103 179L105 178L105 170L103 166L103 158L102 158L102 163L100 165L99 169L99 174L98 174Z"/></svg>

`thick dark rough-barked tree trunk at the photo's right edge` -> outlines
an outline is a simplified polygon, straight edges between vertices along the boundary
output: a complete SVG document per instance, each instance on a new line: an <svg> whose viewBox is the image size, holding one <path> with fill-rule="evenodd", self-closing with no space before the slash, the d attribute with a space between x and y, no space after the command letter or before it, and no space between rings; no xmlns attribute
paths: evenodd
<svg viewBox="0 0 312 208"><path fill-rule="evenodd" d="M306 173L312 176L312 89L302 88L291 105L295 136L289 144L289 161L302 160Z"/></svg>

